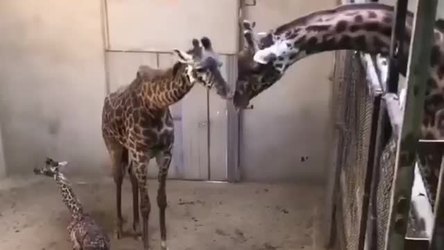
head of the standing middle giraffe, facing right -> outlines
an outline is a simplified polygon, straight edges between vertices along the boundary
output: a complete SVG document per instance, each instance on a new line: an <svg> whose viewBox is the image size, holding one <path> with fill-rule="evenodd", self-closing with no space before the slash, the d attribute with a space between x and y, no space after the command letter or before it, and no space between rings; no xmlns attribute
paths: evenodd
<svg viewBox="0 0 444 250"><path fill-rule="evenodd" d="M214 52L210 38L203 37L200 44L193 39L193 48L188 51L174 49L180 63L188 65L187 77L189 81L203 84L206 88L216 88L217 94L223 99L231 99L234 92L221 74L222 62Z"/></svg>

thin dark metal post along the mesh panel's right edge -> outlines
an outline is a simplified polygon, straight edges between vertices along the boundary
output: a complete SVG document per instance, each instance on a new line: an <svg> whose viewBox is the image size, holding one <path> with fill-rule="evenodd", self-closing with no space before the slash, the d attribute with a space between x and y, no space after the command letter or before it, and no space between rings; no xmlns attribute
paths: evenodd
<svg viewBox="0 0 444 250"><path fill-rule="evenodd" d="M378 81L379 82L379 81ZM368 147L367 167L364 180L364 198L362 200L361 222L359 224L358 250L364 250L367 235L368 208L370 205L370 193L373 184L373 167L375 167L375 149L377 145L377 131L379 122L379 109L381 107L381 97L373 100L372 127L370 131L370 142Z"/></svg>

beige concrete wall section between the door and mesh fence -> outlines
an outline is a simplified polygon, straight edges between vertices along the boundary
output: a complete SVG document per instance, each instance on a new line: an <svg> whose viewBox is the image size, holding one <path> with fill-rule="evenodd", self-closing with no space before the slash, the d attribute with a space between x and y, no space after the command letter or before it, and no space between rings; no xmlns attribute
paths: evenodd
<svg viewBox="0 0 444 250"><path fill-rule="evenodd" d="M257 0L244 14L268 31L309 12L334 7L334 0ZM287 73L244 110L240 168L252 181L324 181L330 149L331 52L316 54Z"/></svg>

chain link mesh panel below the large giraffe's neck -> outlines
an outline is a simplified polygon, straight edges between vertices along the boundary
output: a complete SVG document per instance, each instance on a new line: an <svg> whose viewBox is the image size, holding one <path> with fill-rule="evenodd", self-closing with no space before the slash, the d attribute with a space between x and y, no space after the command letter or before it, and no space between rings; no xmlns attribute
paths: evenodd
<svg viewBox="0 0 444 250"><path fill-rule="evenodd" d="M366 84L366 71L353 51L336 51L335 62L334 108L341 131L336 164L341 166L339 201L343 208L343 245L346 249L355 250L359 240L373 97Z"/></svg>

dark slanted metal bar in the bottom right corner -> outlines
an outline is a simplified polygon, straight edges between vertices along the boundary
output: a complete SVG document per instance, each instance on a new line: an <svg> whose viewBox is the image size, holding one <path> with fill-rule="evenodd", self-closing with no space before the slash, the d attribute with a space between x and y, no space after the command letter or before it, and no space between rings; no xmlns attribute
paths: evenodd
<svg viewBox="0 0 444 250"><path fill-rule="evenodd" d="M443 144L441 144L443 145ZM438 190L436 192L435 222L430 240L429 250L444 249L444 157L441 159L441 170L439 172Z"/></svg>

